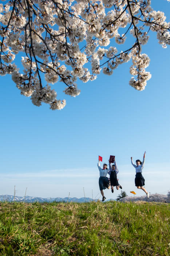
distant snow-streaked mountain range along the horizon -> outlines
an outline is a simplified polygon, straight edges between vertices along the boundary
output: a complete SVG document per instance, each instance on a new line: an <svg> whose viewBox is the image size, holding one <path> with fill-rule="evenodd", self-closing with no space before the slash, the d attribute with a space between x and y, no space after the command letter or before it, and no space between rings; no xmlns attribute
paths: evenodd
<svg viewBox="0 0 170 256"><path fill-rule="evenodd" d="M91 201L97 201L98 199L92 200L92 198L90 197L81 197L81 198L77 198L77 197L47 197L47 198L43 198L43 197L34 197L34 196L15 196L15 200L14 200L14 196L10 196L10 195L0 195L0 202L27 202L27 203L33 203L33 202L76 202L76 203L85 203L85 202L91 202Z"/></svg>

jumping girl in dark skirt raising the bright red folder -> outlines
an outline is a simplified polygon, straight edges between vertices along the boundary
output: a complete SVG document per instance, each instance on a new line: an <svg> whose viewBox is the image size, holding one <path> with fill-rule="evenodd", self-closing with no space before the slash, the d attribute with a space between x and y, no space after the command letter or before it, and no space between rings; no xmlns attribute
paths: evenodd
<svg viewBox="0 0 170 256"><path fill-rule="evenodd" d="M98 168L99 168L99 172L100 172L100 178L99 178L99 188L100 188L100 193L102 194L103 198L102 198L102 202L106 199L106 197L104 196L103 193L103 189L110 189L110 182L108 180L107 176L107 164L104 163L103 164L103 169L100 167L100 160L98 162Z"/></svg>

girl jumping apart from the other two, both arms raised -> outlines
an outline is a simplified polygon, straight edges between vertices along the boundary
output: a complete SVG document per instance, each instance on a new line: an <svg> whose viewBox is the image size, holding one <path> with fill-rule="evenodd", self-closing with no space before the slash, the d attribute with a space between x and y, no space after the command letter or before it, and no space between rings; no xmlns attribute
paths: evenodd
<svg viewBox="0 0 170 256"><path fill-rule="evenodd" d="M145 151L146 153L146 151ZM143 162L141 162L139 159L136 160L136 165L134 165L133 163L133 159L131 157L131 163L132 165L135 167L136 169L136 176L135 176L135 186L139 189L142 189L145 193L147 198L149 198L149 193L146 191L145 188L143 188L143 186L145 185L145 179L142 176L142 169L143 169L143 165L145 163L145 153L143 155Z"/></svg>

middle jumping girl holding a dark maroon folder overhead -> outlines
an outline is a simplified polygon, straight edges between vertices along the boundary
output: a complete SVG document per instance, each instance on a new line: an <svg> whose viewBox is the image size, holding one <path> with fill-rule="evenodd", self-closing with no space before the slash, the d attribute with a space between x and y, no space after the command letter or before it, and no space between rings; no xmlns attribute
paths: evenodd
<svg viewBox="0 0 170 256"><path fill-rule="evenodd" d="M116 189L119 188L122 189L122 186L118 183L117 174L118 174L118 167L116 165L116 161L114 161L114 164L111 166L110 161L109 162L109 171L108 174L110 175L110 185L111 185L111 192L114 192L114 187L116 186Z"/></svg>

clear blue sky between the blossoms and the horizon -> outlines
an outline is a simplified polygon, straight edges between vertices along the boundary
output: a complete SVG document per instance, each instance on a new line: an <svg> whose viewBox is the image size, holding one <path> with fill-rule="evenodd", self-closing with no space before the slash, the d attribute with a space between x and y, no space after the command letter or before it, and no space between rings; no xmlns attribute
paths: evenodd
<svg viewBox="0 0 170 256"><path fill-rule="evenodd" d="M162 1L159 8L159 1L152 2L169 20L170 4ZM83 197L84 188L86 197L99 198L98 155L106 163L115 155L123 190L144 195L134 185L130 157L142 160L145 150L145 188L170 190L170 48L163 49L151 33L142 49L151 59L147 71L152 74L144 91L129 86L129 62L112 76L78 81L76 98L62 94L62 83L54 85L58 98L67 101L61 111L32 105L10 76L0 77L1 195L12 195L16 186L18 196L27 188L29 196ZM104 193L115 199L120 190Z"/></svg>

